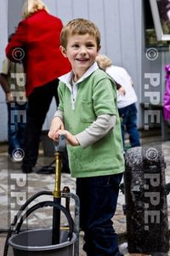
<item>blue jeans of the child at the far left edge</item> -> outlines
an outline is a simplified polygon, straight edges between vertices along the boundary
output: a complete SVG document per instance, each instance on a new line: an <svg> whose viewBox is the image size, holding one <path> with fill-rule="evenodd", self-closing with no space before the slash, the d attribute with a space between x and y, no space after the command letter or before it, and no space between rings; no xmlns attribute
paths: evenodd
<svg viewBox="0 0 170 256"><path fill-rule="evenodd" d="M26 128L26 102L7 103L8 154L12 157L16 148L23 149Z"/></svg>

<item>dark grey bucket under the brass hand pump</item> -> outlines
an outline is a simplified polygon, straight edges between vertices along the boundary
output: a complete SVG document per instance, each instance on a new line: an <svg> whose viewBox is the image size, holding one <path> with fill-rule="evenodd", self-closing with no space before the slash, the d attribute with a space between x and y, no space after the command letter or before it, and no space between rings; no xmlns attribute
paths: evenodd
<svg viewBox="0 0 170 256"><path fill-rule="evenodd" d="M59 244L52 244L52 230L27 230L12 236L8 244L13 247L14 256L72 256L75 233L68 241L68 231L60 230Z"/></svg>

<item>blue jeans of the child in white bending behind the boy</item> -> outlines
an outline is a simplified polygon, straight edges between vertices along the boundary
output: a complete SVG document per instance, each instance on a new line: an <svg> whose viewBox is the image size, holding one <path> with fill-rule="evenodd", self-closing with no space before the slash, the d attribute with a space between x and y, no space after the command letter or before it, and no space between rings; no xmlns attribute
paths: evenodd
<svg viewBox="0 0 170 256"><path fill-rule="evenodd" d="M122 130L122 143L123 148L125 148L125 129L129 134L129 141L131 148L139 147L139 131L137 129L137 108L135 103L125 107L119 108L119 116L121 119L121 130Z"/></svg>

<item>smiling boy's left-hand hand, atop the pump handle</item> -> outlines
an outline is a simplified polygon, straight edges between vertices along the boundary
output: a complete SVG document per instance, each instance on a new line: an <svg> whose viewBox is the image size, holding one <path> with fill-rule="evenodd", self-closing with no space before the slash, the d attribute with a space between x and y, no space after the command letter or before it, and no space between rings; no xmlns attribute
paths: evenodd
<svg viewBox="0 0 170 256"><path fill-rule="evenodd" d="M57 135L57 132L60 130L63 131L64 129L65 129L65 126L63 125L62 120L59 119L58 116L56 116L51 122L51 126L48 131L48 137L50 137L54 141L57 141L59 137L59 135Z"/></svg>

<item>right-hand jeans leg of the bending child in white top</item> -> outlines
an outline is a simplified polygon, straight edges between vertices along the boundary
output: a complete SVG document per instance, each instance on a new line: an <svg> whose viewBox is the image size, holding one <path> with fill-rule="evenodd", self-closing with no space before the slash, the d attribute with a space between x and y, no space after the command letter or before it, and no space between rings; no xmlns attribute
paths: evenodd
<svg viewBox="0 0 170 256"><path fill-rule="evenodd" d="M126 122L127 133L129 134L129 141L131 147L139 147L140 140L139 140L139 131L137 128L137 108L135 103L128 106L128 115L127 115L127 122Z"/></svg>

